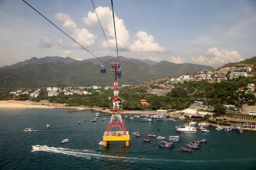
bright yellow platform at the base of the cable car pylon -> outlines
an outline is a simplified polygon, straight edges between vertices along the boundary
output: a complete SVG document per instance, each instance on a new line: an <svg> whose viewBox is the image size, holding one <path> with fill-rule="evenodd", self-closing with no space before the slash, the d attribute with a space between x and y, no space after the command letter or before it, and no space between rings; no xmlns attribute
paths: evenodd
<svg viewBox="0 0 256 170"><path fill-rule="evenodd" d="M106 135L106 132L104 133L103 141L129 141L130 140L128 131L127 131L128 136L126 136L122 131L109 132L107 136L105 135Z"/></svg>

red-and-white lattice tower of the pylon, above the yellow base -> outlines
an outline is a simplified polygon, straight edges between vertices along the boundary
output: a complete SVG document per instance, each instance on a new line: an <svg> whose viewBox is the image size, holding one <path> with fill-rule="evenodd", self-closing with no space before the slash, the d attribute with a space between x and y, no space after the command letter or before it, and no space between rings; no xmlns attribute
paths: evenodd
<svg viewBox="0 0 256 170"><path fill-rule="evenodd" d="M108 136L108 133L111 131L113 127L120 127L120 129L124 132L126 136L128 136L124 123L122 121L120 111L119 111L119 91L118 91L118 82L117 82L117 67L120 67L119 62L112 61L112 67L115 68L115 83L114 83L114 102L113 102L113 112L110 119L109 127L106 131L105 136Z"/></svg>

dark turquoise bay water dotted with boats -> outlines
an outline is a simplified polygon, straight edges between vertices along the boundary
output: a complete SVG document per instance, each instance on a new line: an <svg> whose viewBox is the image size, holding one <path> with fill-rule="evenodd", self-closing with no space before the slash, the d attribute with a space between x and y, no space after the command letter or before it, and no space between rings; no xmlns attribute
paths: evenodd
<svg viewBox="0 0 256 170"><path fill-rule="evenodd" d="M57 109L1 109L0 110L0 170L255 170L256 133L240 134L217 131L177 133L175 126L183 121L140 122L138 118L123 119L130 134L130 146L125 142L110 142L99 145L106 131L106 121L91 122L96 111L84 110L68 113ZM83 120L87 122L83 123ZM77 122L81 121L78 125ZM46 124L50 129L46 129ZM33 132L23 132L33 127ZM157 128L162 129L157 131ZM140 136L131 133L138 131ZM182 140L174 148L159 148L156 136L176 136ZM68 138L68 143L62 144ZM150 139L150 143L143 142ZM181 152L180 147L193 139L206 138L199 150ZM31 145L43 146L34 151ZM179 151L177 151L179 149Z"/></svg>

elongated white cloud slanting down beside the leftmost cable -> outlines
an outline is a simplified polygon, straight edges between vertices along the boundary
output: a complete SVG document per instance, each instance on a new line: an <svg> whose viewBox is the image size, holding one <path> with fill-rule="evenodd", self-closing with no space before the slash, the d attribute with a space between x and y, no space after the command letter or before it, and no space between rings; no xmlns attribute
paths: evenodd
<svg viewBox="0 0 256 170"><path fill-rule="evenodd" d="M76 42L80 43L83 47L88 48L88 47L95 46L95 40L96 40L97 36L89 33L89 31L87 29L77 28L76 24L69 17L69 14L58 13L58 14L54 15L53 19L60 21L63 24L62 26L69 31L70 36ZM59 44L61 45L63 43L59 43ZM80 46L76 43L73 43L73 44L69 45L68 47L69 48L78 48Z"/></svg>

